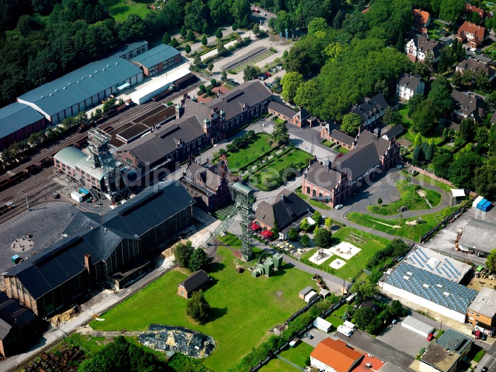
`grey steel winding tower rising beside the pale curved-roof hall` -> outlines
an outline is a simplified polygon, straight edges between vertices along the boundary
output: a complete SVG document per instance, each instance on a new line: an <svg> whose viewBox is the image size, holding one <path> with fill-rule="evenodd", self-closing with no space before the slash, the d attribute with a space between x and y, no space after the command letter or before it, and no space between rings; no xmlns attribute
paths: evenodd
<svg viewBox="0 0 496 372"><path fill-rule="evenodd" d="M111 138L111 135L98 128L93 128L88 132L91 168L102 168L110 200L112 204L115 204L117 199L124 199L129 188L124 182L121 184L121 171L116 166L114 157L109 150Z"/></svg>

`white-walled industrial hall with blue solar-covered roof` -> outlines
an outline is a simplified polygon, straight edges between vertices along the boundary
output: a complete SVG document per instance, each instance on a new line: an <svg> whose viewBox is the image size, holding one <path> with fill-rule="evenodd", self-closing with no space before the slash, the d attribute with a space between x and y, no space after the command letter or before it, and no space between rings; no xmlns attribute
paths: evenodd
<svg viewBox="0 0 496 372"><path fill-rule="evenodd" d="M400 263L384 274L378 283L383 292L426 309L465 322L467 308L477 291L431 271Z"/></svg>

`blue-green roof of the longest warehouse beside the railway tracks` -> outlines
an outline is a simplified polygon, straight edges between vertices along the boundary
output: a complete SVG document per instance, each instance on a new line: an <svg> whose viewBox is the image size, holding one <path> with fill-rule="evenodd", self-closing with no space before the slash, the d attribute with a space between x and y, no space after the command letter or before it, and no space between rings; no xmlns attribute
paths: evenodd
<svg viewBox="0 0 496 372"><path fill-rule="evenodd" d="M17 100L33 103L47 114L55 115L142 72L131 62L111 57L88 63L24 93Z"/></svg>

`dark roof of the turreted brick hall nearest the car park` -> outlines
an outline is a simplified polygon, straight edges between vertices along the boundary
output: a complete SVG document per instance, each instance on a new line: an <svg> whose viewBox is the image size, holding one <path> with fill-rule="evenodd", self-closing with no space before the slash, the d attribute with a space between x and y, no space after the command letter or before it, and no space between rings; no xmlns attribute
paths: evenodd
<svg viewBox="0 0 496 372"><path fill-rule="evenodd" d="M206 106L223 110L226 113L226 121L229 121L243 112L244 104L255 106L271 96L272 93L259 80L247 81L207 102Z"/></svg>

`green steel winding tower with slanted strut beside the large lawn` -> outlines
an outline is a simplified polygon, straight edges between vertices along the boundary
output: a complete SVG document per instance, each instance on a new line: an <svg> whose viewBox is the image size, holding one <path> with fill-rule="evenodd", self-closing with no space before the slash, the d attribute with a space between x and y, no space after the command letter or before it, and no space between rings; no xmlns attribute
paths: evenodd
<svg viewBox="0 0 496 372"><path fill-rule="evenodd" d="M255 197L253 196L253 189L243 185L241 182L231 182L229 184L229 191L231 191L231 196L235 205L231 212L226 216L224 221L215 229L207 244L215 239L217 235L221 232L227 230L227 228L232 224L238 213L241 216L241 256L244 261L250 261L253 258L253 233L251 231L251 222L253 221L253 203Z"/></svg>

